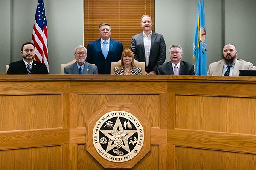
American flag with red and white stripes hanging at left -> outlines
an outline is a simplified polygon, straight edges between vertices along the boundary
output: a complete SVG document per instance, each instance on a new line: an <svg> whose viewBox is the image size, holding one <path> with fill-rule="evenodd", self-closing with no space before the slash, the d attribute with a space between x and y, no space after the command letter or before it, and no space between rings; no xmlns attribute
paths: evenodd
<svg viewBox="0 0 256 170"><path fill-rule="evenodd" d="M45 64L49 72L47 22L45 16L44 0L38 0L31 41L35 45L35 60Z"/></svg>

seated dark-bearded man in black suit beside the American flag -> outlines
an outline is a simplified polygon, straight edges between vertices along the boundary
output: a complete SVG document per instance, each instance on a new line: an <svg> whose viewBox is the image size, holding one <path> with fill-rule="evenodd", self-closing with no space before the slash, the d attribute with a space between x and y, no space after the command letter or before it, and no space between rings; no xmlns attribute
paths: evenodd
<svg viewBox="0 0 256 170"><path fill-rule="evenodd" d="M35 45L26 42L21 46L22 60L12 62L6 74L49 74L46 65L37 62L35 58Z"/></svg>

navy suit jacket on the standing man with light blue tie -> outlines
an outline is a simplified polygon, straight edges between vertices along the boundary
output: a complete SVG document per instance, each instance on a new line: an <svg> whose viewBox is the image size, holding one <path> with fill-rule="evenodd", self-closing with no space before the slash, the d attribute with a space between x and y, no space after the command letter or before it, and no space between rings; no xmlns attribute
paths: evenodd
<svg viewBox="0 0 256 170"><path fill-rule="evenodd" d="M110 63L119 61L121 59L122 51L122 43L110 39L109 51L107 58L105 59L99 39L88 44L86 61L95 64L98 67L99 74L110 74Z"/></svg>

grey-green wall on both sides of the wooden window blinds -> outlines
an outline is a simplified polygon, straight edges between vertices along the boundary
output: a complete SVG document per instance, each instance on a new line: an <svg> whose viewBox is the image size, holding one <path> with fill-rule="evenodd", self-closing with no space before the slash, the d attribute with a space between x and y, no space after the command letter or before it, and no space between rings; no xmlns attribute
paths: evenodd
<svg viewBox="0 0 256 170"><path fill-rule="evenodd" d="M166 49L183 47L183 60L192 59L198 0L156 0L156 32L163 34ZM73 50L83 45L83 0L44 0L48 24L50 74L60 74L61 63L74 59ZM256 65L256 1L204 0L207 30L207 63L222 58L227 42L236 45L239 58ZM0 73L5 65L22 59L20 46L30 42L37 0L0 1ZM139 23L138 23L139 24ZM87 46L87 44L85 45ZM169 61L167 51L166 62Z"/></svg>

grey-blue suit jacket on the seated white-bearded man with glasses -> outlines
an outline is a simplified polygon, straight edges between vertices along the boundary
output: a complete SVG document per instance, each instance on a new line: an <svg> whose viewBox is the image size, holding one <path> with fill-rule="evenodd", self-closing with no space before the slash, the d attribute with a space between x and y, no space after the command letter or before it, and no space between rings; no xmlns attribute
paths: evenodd
<svg viewBox="0 0 256 170"><path fill-rule="evenodd" d="M64 74L78 74L77 62L65 67ZM98 68L95 65L85 62L83 74L98 74Z"/></svg>

